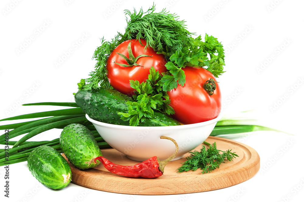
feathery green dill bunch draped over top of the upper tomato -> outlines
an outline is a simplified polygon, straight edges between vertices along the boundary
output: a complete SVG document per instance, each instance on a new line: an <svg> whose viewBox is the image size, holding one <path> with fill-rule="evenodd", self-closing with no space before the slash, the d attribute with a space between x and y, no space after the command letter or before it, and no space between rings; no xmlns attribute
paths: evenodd
<svg viewBox="0 0 304 202"><path fill-rule="evenodd" d="M168 53L193 45L190 37L194 33L187 30L184 20L179 20L179 16L165 9L161 12L155 10L154 4L147 12L143 12L142 8L138 13L135 8L133 13L125 10L125 15L130 17L126 26L129 39L145 39L146 47L151 47L158 53Z"/></svg>

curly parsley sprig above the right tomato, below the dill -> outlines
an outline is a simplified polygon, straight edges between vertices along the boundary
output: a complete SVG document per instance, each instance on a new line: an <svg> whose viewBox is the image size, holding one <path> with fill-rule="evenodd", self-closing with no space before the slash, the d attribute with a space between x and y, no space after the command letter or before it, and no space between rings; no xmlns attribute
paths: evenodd
<svg viewBox="0 0 304 202"><path fill-rule="evenodd" d="M205 41L202 41L200 35L197 38L191 38L191 40L190 46L167 53L168 62L165 67L170 72L170 75L164 75L162 78L164 91L177 88L178 84L184 86L186 77L182 68L185 66L197 68L204 68L206 66L206 69L215 77L224 72L224 49L223 45L217 41L217 38L206 34ZM210 59L208 58L208 54Z"/></svg>

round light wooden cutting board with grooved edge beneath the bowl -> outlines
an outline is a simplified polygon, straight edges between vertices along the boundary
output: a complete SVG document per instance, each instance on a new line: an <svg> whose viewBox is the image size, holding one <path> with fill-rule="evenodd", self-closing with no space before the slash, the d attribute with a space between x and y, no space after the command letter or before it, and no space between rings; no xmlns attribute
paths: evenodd
<svg viewBox="0 0 304 202"><path fill-rule="evenodd" d="M154 179L130 178L107 171L102 164L95 168L80 170L70 164L72 182L84 187L120 194L164 195L188 194L230 187L253 177L260 169L260 156L251 147L221 137L208 137L206 142L216 142L219 150L232 149L239 156L233 161L222 163L219 168L202 174L200 170L177 173L176 169L186 157L170 161L161 177ZM199 151L202 145L195 150ZM138 164L115 149L102 149L105 158L120 165ZM64 156L64 154L63 154ZM65 157L65 156L64 156Z"/></svg>

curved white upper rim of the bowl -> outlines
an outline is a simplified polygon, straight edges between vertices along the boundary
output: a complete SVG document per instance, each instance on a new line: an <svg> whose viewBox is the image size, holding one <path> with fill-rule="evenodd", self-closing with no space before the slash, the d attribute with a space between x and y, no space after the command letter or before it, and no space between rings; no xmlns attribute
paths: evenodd
<svg viewBox="0 0 304 202"><path fill-rule="evenodd" d="M215 123L219 121L221 118L223 118L223 113L220 112L219 115L211 119L209 121L204 121L200 123L195 123L195 124L185 124L185 125L176 125L176 126L125 126L125 125L116 125L116 124L108 124L104 123L101 121L96 121L88 116L88 114L85 114L85 118L88 119L93 124L96 124L98 126L103 126L103 127L108 127L108 128L116 128L116 129L121 129L121 130L143 130L143 129L150 129L150 128L155 128L157 130L162 129L162 130L172 130L172 129L187 129L187 128L194 128L194 127L202 127L206 126L212 123Z"/></svg>

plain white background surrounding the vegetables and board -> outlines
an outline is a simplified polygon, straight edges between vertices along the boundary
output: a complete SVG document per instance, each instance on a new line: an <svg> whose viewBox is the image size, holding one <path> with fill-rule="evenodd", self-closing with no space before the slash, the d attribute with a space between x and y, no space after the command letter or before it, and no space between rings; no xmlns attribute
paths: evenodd
<svg viewBox="0 0 304 202"><path fill-rule="evenodd" d="M218 81L225 113L256 109L263 124L295 136L255 132L249 137L237 138L258 151L261 170L250 180L222 190L161 197L112 194L70 184L54 191L40 186L27 170L26 163L19 163L10 166L9 201L38 201L42 197L66 201L255 201L264 194L267 194L264 201L303 198L304 175L299 170L303 166L300 148L304 112L304 2L154 2L157 11L167 8L185 20L190 32L202 36L207 33L222 41L226 72ZM74 101L72 93L77 91L77 83L94 70L92 55L100 45L100 38L110 40L117 31L124 31L125 9L142 7L146 11L152 5L153 2L147 1L118 0L2 0L0 119L55 109L20 106L25 103ZM49 131L36 139L52 140L58 135L58 131ZM275 156L278 159L272 161ZM3 176L1 167L0 193L7 201L2 191Z"/></svg>

